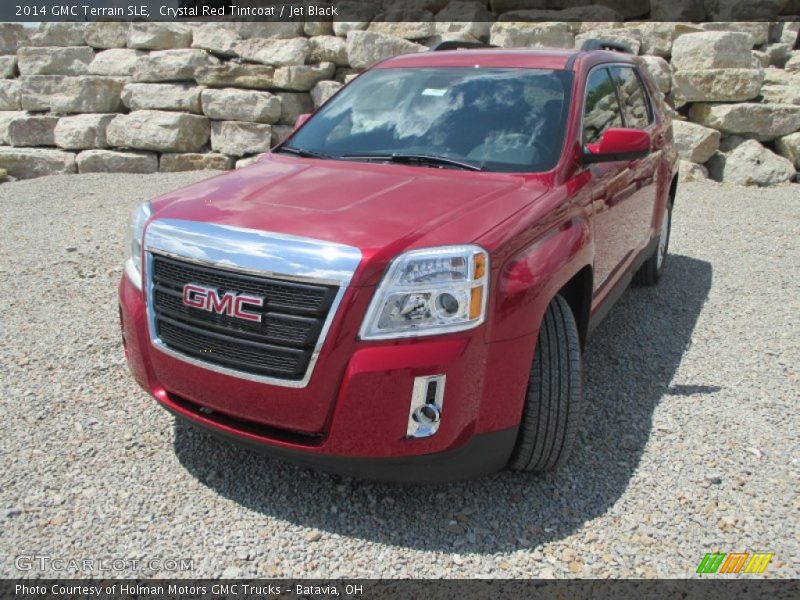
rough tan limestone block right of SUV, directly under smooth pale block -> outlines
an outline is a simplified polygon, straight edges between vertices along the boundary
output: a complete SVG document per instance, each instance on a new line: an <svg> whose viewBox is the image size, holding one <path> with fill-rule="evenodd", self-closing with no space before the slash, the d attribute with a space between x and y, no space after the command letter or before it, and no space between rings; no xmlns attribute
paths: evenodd
<svg viewBox="0 0 800 600"><path fill-rule="evenodd" d="M758 96L763 81L763 69L675 71L672 97L677 106L688 102L743 102Z"/></svg>

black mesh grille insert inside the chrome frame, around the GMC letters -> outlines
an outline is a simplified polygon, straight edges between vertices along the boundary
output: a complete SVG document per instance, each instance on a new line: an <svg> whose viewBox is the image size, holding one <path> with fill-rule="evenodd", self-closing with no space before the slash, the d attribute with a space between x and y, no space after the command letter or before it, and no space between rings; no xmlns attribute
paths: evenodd
<svg viewBox="0 0 800 600"><path fill-rule="evenodd" d="M153 256L152 305L156 334L169 349L253 375L299 380L305 375L338 288L291 282ZM246 293L263 298L247 305L260 322L188 306L187 284L214 290L216 297Z"/></svg>

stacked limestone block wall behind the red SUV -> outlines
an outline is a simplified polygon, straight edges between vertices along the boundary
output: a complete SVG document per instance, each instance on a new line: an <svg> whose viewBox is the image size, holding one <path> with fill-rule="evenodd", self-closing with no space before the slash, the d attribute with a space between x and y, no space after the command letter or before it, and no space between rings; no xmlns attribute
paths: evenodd
<svg viewBox="0 0 800 600"><path fill-rule="evenodd" d="M671 107L685 178L797 179L797 22L615 22L630 15L428 4L428 20L402 22L2 23L0 169L20 179L232 169L382 58L443 40L575 48L601 38L643 57ZM464 14L474 20L448 20Z"/></svg>

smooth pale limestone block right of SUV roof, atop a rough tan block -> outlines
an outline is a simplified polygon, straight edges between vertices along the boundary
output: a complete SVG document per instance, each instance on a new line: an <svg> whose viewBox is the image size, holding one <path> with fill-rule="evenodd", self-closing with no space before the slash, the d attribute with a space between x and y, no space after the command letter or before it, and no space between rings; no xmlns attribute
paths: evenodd
<svg viewBox="0 0 800 600"><path fill-rule="evenodd" d="M672 69L746 69L753 66L753 38L747 33L687 33L672 45Z"/></svg>

